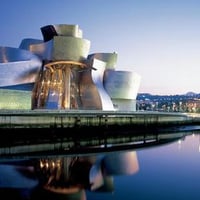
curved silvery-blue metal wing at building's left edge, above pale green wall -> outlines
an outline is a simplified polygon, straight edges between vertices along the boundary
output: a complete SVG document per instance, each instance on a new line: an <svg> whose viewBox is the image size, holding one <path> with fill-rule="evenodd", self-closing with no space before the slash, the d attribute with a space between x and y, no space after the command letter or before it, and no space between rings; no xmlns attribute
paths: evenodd
<svg viewBox="0 0 200 200"><path fill-rule="evenodd" d="M35 82L41 66L30 51L0 47L0 87Z"/></svg>

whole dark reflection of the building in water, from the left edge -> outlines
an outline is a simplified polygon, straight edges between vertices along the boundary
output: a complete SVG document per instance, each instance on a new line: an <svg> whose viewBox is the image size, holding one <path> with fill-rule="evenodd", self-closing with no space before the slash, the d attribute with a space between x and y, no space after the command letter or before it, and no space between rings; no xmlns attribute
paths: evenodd
<svg viewBox="0 0 200 200"><path fill-rule="evenodd" d="M0 191L25 190L31 199L80 200L86 199L86 190L113 192L113 176L135 174L139 165L136 152L121 152L11 161L1 164L0 169Z"/></svg>

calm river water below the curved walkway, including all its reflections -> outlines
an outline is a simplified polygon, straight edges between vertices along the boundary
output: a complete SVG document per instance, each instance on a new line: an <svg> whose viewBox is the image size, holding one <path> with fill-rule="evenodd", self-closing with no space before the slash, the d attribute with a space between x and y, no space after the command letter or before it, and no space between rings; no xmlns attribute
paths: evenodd
<svg viewBox="0 0 200 200"><path fill-rule="evenodd" d="M106 153L3 159L1 199L199 200L200 131L178 136Z"/></svg>

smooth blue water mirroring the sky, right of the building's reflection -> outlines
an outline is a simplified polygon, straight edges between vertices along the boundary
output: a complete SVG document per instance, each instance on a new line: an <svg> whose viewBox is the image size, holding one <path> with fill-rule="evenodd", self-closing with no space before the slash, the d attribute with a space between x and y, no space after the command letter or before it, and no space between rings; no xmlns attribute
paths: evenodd
<svg viewBox="0 0 200 200"><path fill-rule="evenodd" d="M137 151L139 171L114 177L114 192L87 193L87 199L199 200L199 135Z"/></svg>

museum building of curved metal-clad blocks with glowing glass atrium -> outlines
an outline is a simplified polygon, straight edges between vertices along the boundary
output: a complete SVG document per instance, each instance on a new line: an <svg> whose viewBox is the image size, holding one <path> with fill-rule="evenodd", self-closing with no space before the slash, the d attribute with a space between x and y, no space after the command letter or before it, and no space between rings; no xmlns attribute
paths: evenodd
<svg viewBox="0 0 200 200"><path fill-rule="evenodd" d="M89 54L78 25L41 32L0 48L0 108L136 110L140 76L116 70L117 53Z"/></svg>

